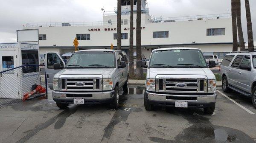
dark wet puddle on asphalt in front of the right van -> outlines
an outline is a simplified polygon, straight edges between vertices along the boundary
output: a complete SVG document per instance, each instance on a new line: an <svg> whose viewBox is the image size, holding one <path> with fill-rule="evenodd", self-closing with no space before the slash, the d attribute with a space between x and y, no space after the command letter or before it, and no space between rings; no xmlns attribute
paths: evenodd
<svg viewBox="0 0 256 143"><path fill-rule="evenodd" d="M148 137L157 143L255 143L253 138L242 131L229 127L213 125L203 111L198 110L193 114L189 110L166 109L172 115L182 116L189 121L191 126L177 135L175 140L166 140L160 137Z"/></svg>

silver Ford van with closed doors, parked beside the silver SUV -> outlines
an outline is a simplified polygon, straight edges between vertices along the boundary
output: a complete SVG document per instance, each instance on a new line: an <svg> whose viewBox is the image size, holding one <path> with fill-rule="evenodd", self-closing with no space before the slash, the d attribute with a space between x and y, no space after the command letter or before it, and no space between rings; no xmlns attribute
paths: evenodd
<svg viewBox="0 0 256 143"><path fill-rule="evenodd" d="M200 49L162 48L153 50L147 69L144 106L198 107L213 113L216 102L216 80Z"/></svg>

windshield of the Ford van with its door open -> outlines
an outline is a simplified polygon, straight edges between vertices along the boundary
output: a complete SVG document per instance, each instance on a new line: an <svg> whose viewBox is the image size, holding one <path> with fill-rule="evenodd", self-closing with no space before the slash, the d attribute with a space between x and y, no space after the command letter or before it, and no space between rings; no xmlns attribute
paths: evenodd
<svg viewBox="0 0 256 143"><path fill-rule="evenodd" d="M115 54L108 51L75 52L65 68L115 68Z"/></svg>

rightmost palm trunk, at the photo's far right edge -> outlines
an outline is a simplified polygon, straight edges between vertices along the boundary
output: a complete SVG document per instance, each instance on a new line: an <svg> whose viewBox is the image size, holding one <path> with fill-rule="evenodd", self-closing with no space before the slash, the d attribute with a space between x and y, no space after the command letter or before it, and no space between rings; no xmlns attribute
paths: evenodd
<svg viewBox="0 0 256 143"><path fill-rule="evenodd" d="M252 28L252 20L250 15L249 0L245 0L245 9L246 9L246 20L247 20L248 50L251 52L251 51L254 51L254 44L253 44L253 28Z"/></svg>

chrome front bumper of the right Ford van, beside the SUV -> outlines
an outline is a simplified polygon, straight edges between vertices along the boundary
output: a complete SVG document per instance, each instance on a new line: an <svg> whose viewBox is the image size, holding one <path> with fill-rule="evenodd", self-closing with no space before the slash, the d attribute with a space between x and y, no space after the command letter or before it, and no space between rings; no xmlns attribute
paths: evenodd
<svg viewBox="0 0 256 143"><path fill-rule="evenodd" d="M175 95L152 93L146 91L145 98L150 104L156 106L175 107L175 101L187 101L188 107L211 107L216 103L217 95Z"/></svg>

